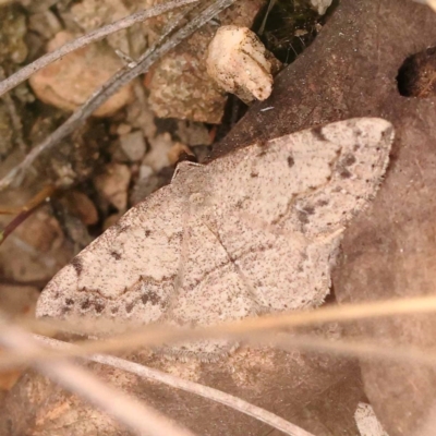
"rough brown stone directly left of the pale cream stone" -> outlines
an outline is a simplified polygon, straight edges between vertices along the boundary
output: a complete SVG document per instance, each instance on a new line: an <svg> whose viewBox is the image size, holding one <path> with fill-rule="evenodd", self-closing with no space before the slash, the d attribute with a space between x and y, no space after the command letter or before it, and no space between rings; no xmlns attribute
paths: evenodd
<svg viewBox="0 0 436 436"><path fill-rule="evenodd" d="M164 0L156 0L161 3ZM222 11L221 24L252 26L266 0L239 0ZM160 33L165 22L152 20L149 26ZM177 118L219 124L227 95L206 70L207 46L217 29L216 21L207 23L190 38L159 60L145 77L149 105L159 118Z"/></svg>

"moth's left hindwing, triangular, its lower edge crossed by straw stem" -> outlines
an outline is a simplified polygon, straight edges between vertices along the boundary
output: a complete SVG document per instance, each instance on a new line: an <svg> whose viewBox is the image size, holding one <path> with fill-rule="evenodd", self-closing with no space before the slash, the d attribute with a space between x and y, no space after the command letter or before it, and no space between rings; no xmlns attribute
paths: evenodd
<svg viewBox="0 0 436 436"><path fill-rule="evenodd" d="M195 327L257 314L259 305L211 222L197 210L190 210L185 219L182 269L165 320L174 326ZM234 341L226 339L202 340L165 348L165 353L178 358L195 355L210 362L234 347Z"/></svg>

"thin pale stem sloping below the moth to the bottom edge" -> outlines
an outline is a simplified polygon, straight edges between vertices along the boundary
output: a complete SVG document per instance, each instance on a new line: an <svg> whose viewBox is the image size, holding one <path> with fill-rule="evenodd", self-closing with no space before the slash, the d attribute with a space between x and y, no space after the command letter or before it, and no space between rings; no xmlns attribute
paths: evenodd
<svg viewBox="0 0 436 436"><path fill-rule="evenodd" d="M56 339L47 338L45 336L37 336L35 338L50 346L51 348L59 350L71 349L74 346L71 343L62 342ZM89 361L98 362L104 365L110 365L116 368L126 371L129 373L133 373L138 375L140 377L147 378L149 380L156 380L164 383L165 385L171 386L175 389L182 389L186 392L195 393L199 397L206 398L211 401L219 402L221 404L228 405L234 410L238 410L242 413L247 414L249 416L253 416L256 420L259 420L271 427L279 429L280 432L286 433L290 436L314 436L311 433L300 428L299 426L291 424L290 422L283 420L280 416L277 416L274 413L266 411L265 409L258 408L257 405L251 404L247 401L244 401L238 397L234 397L230 393L222 392L221 390L210 388L208 386L201 385L198 383L185 380L180 377L175 377L173 375L164 373L159 370L154 370L144 365L140 365L134 362L126 361L124 359L116 358L113 355L105 355L105 354L94 354L86 358Z"/></svg>

